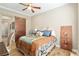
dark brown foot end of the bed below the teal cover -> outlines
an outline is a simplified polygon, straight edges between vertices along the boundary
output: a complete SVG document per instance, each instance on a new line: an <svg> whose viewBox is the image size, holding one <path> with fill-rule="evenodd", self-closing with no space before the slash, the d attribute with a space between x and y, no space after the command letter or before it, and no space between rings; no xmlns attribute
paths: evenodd
<svg viewBox="0 0 79 59"><path fill-rule="evenodd" d="M30 55L31 45L27 44L26 42L24 42L24 41L22 41L22 40L19 40L18 49L19 49L24 55Z"/></svg>

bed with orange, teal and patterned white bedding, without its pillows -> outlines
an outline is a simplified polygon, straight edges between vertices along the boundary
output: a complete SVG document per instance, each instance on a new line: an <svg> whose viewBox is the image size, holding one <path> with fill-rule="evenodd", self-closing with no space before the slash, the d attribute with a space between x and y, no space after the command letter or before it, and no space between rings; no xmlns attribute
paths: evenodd
<svg viewBox="0 0 79 59"><path fill-rule="evenodd" d="M17 48L24 55L46 56L54 47L56 37L27 35L19 38Z"/></svg>

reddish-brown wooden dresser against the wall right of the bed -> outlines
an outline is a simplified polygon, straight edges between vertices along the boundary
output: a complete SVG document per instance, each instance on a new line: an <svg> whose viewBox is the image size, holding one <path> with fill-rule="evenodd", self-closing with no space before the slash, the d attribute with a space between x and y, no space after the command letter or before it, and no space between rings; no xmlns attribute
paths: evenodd
<svg viewBox="0 0 79 59"><path fill-rule="evenodd" d="M61 48L72 50L72 26L61 26L60 31Z"/></svg>

